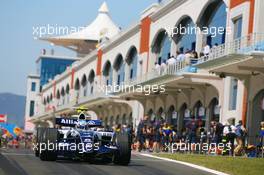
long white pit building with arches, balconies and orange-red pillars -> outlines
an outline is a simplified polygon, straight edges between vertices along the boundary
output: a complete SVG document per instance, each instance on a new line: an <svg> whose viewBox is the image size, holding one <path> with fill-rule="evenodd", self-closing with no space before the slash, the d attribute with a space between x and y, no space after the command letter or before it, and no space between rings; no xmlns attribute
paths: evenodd
<svg viewBox="0 0 264 175"><path fill-rule="evenodd" d="M71 114L72 107L82 105L105 125L136 126L144 115L162 117L178 130L191 117L207 128L212 120L235 124L242 120L254 142L264 120L263 7L262 0L171 0L152 4L139 22L117 32L100 26L111 20L104 3L98 15L102 21L95 27L101 33L117 33L95 38L96 47L91 46L95 39L84 32L78 34L78 44L74 36L45 39L65 45L67 38L83 58L42 87L38 112L30 121L53 126L55 116ZM176 31L181 28L196 32ZM83 54L80 40L91 40L89 46L96 49ZM206 46L210 52L200 54ZM191 50L198 53L196 60L177 60L162 71L155 68L155 63ZM165 92L145 95L125 91L124 86L118 92L102 91L116 85L164 85Z"/></svg>

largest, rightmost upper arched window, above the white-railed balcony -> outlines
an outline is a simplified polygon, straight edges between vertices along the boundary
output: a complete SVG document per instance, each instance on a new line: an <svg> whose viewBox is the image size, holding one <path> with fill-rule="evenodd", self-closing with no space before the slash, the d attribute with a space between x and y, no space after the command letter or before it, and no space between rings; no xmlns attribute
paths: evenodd
<svg viewBox="0 0 264 175"><path fill-rule="evenodd" d="M215 0L210 2L200 20L198 21L198 26L203 29L203 27L211 29L226 29L226 19L227 19L227 7L223 0ZM225 42L226 31L219 33L211 30L212 32L206 36L206 43L209 46L223 44Z"/></svg>

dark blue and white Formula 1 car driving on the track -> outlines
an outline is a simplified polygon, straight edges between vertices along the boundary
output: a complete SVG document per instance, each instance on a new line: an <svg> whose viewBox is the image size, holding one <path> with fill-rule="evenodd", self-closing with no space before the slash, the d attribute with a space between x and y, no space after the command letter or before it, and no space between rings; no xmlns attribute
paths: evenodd
<svg viewBox="0 0 264 175"><path fill-rule="evenodd" d="M56 128L38 128L35 155L43 161L60 158L95 160L128 165L131 159L131 137L102 127L100 120L86 120L85 114L74 118L56 118Z"/></svg>

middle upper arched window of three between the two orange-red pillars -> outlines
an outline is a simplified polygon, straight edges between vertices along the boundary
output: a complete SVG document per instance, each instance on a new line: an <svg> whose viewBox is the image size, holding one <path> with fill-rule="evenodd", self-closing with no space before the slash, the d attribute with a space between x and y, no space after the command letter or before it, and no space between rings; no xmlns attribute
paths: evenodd
<svg viewBox="0 0 264 175"><path fill-rule="evenodd" d="M116 71L116 84L120 85L125 80L125 63L121 54L119 54L114 62L114 69Z"/></svg>

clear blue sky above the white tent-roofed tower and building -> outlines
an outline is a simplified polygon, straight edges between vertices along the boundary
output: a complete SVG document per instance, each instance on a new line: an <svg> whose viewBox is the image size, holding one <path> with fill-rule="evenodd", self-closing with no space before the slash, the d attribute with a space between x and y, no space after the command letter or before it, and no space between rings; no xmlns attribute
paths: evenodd
<svg viewBox="0 0 264 175"><path fill-rule="evenodd" d="M139 20L140 13L157 0L105 0L114 22L122 28ZM26 77L36 72L35 60L48 43L33 39L41 25L85 26L104 0L3 0L0 2L0 93L26 94ZM55 54L69 54L55 48Z"/></svg>

